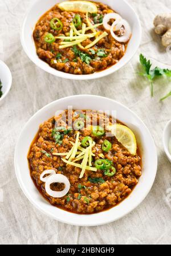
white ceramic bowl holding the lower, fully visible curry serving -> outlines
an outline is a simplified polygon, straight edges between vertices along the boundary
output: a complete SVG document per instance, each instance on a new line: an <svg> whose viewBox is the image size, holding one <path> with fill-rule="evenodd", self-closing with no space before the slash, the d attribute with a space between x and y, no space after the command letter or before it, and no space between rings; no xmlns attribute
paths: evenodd
<svg viewBox="0 0 171 256"><path fill-rule="evenodd" d="M133 189L132 193L124 199L123 202L110 210L89 215L69 213L68 211L64 211L50 205L50 203L40 195L32 182L30 171L28 169L27 153L31 142L38 131L39 125L54 116L56 110L65 110L68 106L72 106L75 110L115 110L117 119L128 125L136 135L143 158L142 175L139 179L139 183L136 185L135 189ZM57 114L58 113L56 113L56 115ZM76 95L58 99L57 101L43 107L31 117L23 128L15 147L14 162L15 173L23 193L25 193L26 197L40 211L47 214L49 217L64 223L79 226L96 226L109 223L123 217L143 201L149 193L156 176L157 153L149 130L146 128L143 121L141 121L141 119L127 107L113 101L112 99L96 95Z"/></svg>

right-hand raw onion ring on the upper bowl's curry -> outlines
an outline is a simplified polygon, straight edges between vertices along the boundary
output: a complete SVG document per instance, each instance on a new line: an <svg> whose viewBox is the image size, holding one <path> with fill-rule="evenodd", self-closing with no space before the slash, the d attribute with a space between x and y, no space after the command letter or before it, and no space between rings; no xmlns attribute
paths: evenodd
<svg viewBox="0 0 171 256"><path fill-rule="evenodd" d="M119 30L118 27L124 26L125 31L121 37L117 37L114 31ZM127 42L131 37L131 27L129 26L128 22L125 19L121 19L120 21L114 21L111 26L111 35L117 42Z"/></svg>

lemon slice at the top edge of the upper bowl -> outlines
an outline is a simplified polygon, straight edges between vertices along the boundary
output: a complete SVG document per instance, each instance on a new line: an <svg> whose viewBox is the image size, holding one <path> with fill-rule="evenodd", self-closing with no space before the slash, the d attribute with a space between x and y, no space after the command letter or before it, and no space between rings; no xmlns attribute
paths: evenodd
<svg viewBox="0 0 171 256"><path fill-rule="evenodd" d="M88 1L64 1L59 3L59 8L63 11L80 11L82 13L97 13L95 3Z"/></svg>

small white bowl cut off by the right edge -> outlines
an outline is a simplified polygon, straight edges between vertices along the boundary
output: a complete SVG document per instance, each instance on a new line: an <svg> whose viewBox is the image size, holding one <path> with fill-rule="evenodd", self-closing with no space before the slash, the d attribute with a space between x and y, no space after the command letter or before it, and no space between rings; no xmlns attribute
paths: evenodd
<svg viewBox="0 0 171 256"><path fill-rule="evenodd" d="M171 154L169 153L169 139L171 138L171 120L166 123L166 126L164 128L163 134L162 134L162 143L164 146L164 150L166 153L166 156L168 157L169 161L171 162Z"/></svg>

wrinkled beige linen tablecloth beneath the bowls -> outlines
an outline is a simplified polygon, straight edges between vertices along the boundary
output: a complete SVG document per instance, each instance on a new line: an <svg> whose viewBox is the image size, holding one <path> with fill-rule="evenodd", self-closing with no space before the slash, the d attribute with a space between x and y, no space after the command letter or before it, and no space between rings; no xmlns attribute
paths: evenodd
<svg viewBox="0 0 171 256"><path fill-rule="evenodd" d="M148 82L137 75L139 54L154 65L171 66L153 18L170 12L171 0L129 0L141 19L143 37L135 57L121 70L94 81L54 77L28 59L19 39L22 21L34 0L0 0L0 59L13 75L11 91L0 107L0 243L10 244L163 244L171 243L171 165L162 147L162 131L171 118L171 97L159 102L170 87L157 81L154 98ZM74 94L97 94L115 99L135 111L150 129L157 147L158 170L143 203L119 221L99 227L70 226L36 210L21 191L14 172L14 148L27 120L41 107ZM153 160L152 160L153 161ZM170 201L170 202L169 202ZM90 235L91 234L91 235Z"/></svg>

